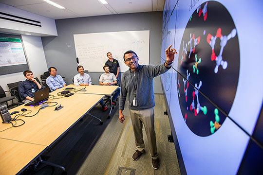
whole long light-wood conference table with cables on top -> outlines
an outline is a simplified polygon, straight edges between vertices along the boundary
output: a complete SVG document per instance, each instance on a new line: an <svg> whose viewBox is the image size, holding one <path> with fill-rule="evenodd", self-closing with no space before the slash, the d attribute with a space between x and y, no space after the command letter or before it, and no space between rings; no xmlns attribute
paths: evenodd
<svg viewBox="0 0 263 175"><path fill-rule="evenodd" d="M74 85L69 85L65 88L73 86ZM75 88L79 89L84 87ZM41 160L40 155L45 150L59 140L83 116L87 114L91 115L89 113L90 110L105 97L105 94L112 95L117 87L111 88L111 86L95 85L86 87L86 89L90 89L90 91L93 91L96 88L101 89L97 91L99 93L87 93L88 90L85 92L76 91L74 92L74 95L70 97L60 98L57 96L57 93L64 90L64 88L61 88L50 93L48 107L42 109L42 105L37 107L20 105L9 110L10 113L13 111L19 111L17 114L22 114L23 112L21 112L21 108L26 108L27 111L24 112L23 115L36 115L33 117L19 116L18 119L22 119L25 122L19 127L10 128L12 126L10 123L0 124L0 175L19 174L37 158ZM105 90L105 94L103 94L103 90ZM57 105L61 105L63 108L55 111L54 109ZM29 111L31 112L29 113ZM12 115L11 117L14 118L17 114ZM17 121L17 125L21 123L21 121ZM10 151L8 147L16 147L16 149ZM30 156L28 155L28 157L25 158L24 154L28 151L30 152ZM9 162L12 159L16 159L14 162L19 161L19 164L15 167L10 166ZM52 163L47 164L56 166L65 171L64 167L59 165Z"/></svg>

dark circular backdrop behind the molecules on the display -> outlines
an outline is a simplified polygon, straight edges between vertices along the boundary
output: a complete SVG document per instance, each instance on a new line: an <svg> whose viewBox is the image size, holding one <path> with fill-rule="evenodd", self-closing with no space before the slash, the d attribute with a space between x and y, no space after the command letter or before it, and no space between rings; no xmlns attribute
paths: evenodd
<svg viewBox="0 0 263 175"><path fill-rule="evenodd" d="M207 7L207 11L205 6ZM205 11L207 12L206 15ZM221 54L223 60L222 65L227 62L227 67L225 68L224 65L223 68L222 65L219 65L216 71L216 60L212 61L212 46L208 43L208 41L211 40L212 36L216 36L217 33L218 37L216 37L215 40L214 55L219 56ZM220 45L220 34L222 36L228 36L231 34L231 37L228 37L229 39L223 49ZM191 44L190 42L188 44L188 41L190 41L190 35L192 37L192 42ZM199 42L197 39L198 37L200 37ZM196 43L198 42L198 44L195 45L193 38L196 39ZM190 47L190 45L192 47ZM184 55L184 47L187 53L185 54L185 57L181 59ZM191 48L192 52L190 53ZM199 60L200 62L198 63ZM198 64L196 64L196 62ZM195 67L195 72L193 71L194 65L197 65L197 67ZM207 107L207 114L205 115L204 112L200 110L199 113L195 115L194 110L190 110L190 105L193 102L193 91L195 91L195 88L190 84L188 85L186 101L183 77L181 75L178 76L177 74L177 83L179 81L180 84L179 92L177 94L179 97L181 112L188 128L194 134L202 137L212 134L210 121L213 123L216 121L215 105L218 105L225 112L225 114L228 115L236 95L239 69L240 49L238 31L231 15L225 6L217 1L204 2L200 7L195 9L192 16L188 20L180 45L177 69L186 78L188 70L188 73L190 73L188 81L193 86L197 84L198 87L200 81L202 81L202 86L199 90L208 98L205 98L205 96L199 93L199 103L202 107ZM215 105L209 102L209 100ZM194 96L194 106L197 108L197 96ZM226 119L226 115L219 110L218 116L220 118L219 124L222 126ZM218 129L214 129L213 133L218 130L220 130L220 127Z"/></svg>

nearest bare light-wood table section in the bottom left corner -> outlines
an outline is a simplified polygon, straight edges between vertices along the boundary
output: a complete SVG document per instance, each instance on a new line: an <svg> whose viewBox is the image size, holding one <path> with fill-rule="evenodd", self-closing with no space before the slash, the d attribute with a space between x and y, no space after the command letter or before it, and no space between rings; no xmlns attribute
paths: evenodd
<svg viewBox="0 0 263 175"><path fill-rule="evenodd" d="M0 175L16 175L46 148L38 144L0 139Z"/></svg>

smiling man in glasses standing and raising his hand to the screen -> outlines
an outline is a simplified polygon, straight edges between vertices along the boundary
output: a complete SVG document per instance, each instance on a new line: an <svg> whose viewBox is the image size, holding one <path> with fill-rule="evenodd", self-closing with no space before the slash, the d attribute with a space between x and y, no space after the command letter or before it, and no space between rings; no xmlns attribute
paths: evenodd
<svg viewBox="0 0 263 175"><path fill-rule="evenodd" d="M119 103L119 120L124 123L125 118L122 113L126 97L129 100L129 110L131 123L135 136L137 150L132 156L132 160L137 160L144 153L144 141L142 134L142 124L144 125L149 144L151 166L153 169L159 168L159 155L157 153L156 138L154 131L154 94L153 78L165 73L171 68L174 59L175 49L165 50L166 61L162 65L139 65L139 57L133 51L124 53L125 64L130 68L125 71L121 81L121 95ZM177 53L176 53L177 54Z"/></svg>

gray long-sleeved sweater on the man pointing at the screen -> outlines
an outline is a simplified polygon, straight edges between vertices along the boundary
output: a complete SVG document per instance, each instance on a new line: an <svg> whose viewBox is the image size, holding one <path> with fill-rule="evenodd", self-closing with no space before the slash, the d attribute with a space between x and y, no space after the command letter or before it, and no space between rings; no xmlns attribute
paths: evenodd
<svg viewBox="0 0 263 175"><path fill-rule="evenodd" d="M125 71L121 78L121 94L119 109L124 109L127 94L129 100L129 109L142 110L155 106L153 93L153 78L162 73L165 73L170 68L166 68L164 64L156 66L138 65L135 72L133 72L131 69ZM134 87L136 87L136 85L137 106L133 106L132 101L134 99Z"/></svg>

